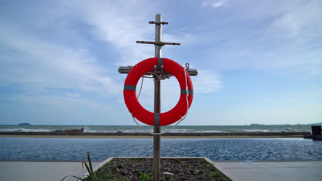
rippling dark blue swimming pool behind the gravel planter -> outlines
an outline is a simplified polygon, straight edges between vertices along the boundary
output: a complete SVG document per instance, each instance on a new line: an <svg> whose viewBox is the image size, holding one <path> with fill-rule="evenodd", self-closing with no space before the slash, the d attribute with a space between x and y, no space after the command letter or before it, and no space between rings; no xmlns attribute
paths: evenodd
<svg viewBox="0 0 322 181"><path fill-rule="evenodd" d="M105 160L153 156L151 138L0 138L0 159ZM167 138L161 156L211 160L322 159L322 142L303 138Z"/></svg>

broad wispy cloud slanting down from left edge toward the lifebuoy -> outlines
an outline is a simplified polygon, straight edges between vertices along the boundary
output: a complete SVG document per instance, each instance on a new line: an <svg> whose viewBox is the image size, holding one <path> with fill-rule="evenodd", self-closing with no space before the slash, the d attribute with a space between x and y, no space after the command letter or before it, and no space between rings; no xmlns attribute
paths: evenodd
<svg viewBox="0 0 322 181"><path fill-rule="evenodd" d="M1 25L0 80L33 90L71 88L100 95L118 94L120 84L108 77L86 49L71 49ZM15 53L12 53L15 51Z"/></svg>

